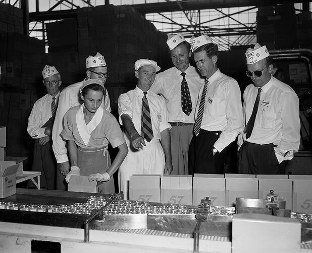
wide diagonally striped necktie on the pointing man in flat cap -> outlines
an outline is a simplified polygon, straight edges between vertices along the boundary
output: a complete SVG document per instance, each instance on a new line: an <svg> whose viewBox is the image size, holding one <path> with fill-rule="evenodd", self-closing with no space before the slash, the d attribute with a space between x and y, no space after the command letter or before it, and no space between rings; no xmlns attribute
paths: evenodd
<svg viewBox="0 0 312 253"><path fill-rule="evenodd" d="M153 129L151 126L150 111L146 98L147 92L143 92L142 98L142 116L141 116L141 136L147 141L153 138Z"/></svg>

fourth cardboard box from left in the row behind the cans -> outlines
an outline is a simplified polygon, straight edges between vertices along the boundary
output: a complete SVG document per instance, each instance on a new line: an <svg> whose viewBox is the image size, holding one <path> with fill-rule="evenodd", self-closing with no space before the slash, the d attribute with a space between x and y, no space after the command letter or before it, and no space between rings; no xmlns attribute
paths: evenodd
<svg viewBox="0 0 312 253"><path fill-rule="evenodd" d="M233 206L236 198L258 198L255 175L225 174L225 205Z"/></svg>

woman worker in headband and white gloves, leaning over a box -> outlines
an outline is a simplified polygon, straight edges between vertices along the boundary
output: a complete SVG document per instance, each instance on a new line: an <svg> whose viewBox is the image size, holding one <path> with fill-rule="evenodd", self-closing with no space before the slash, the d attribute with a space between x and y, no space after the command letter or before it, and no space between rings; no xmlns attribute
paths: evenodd
<svg viewBox="0 0 312 253"><path fill-rule="evenodd" d="M80 96L83 104L70 108L64 115L61 136L67 140L71 175L89 176L89 181L108 181L105 193L114 193L113 174L128 153L125 139L116 118L103 109L104 86L100 80L83 82ZM119 151L111 164L109 142Z"/></svg>

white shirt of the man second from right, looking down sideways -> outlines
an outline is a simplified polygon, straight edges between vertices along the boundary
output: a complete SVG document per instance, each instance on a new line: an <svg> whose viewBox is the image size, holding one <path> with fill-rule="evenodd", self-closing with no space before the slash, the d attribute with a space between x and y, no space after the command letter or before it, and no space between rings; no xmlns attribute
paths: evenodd
<svg viewBox="0 0 312 253"><path fill-rule="evenodd" d="M209 79L200 129L222 131L214 147L221 152L242 130L242 105L238 83L218 69ZM203 86L199 94L201 96ZM200 99L196 106L196 117Z"/></svg>

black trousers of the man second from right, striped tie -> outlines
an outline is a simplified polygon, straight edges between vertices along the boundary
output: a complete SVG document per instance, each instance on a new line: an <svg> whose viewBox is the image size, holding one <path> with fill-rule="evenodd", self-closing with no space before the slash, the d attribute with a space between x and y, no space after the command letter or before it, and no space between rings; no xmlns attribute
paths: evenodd
<svg viewBox="0 0 312 253"><path fill-rule="evenodd" d="M221 132L200 130L198 136L193 136L188 151L189 174L223 174L225 157L228 147L221 153L213 155L215 142Z"/></svg>

